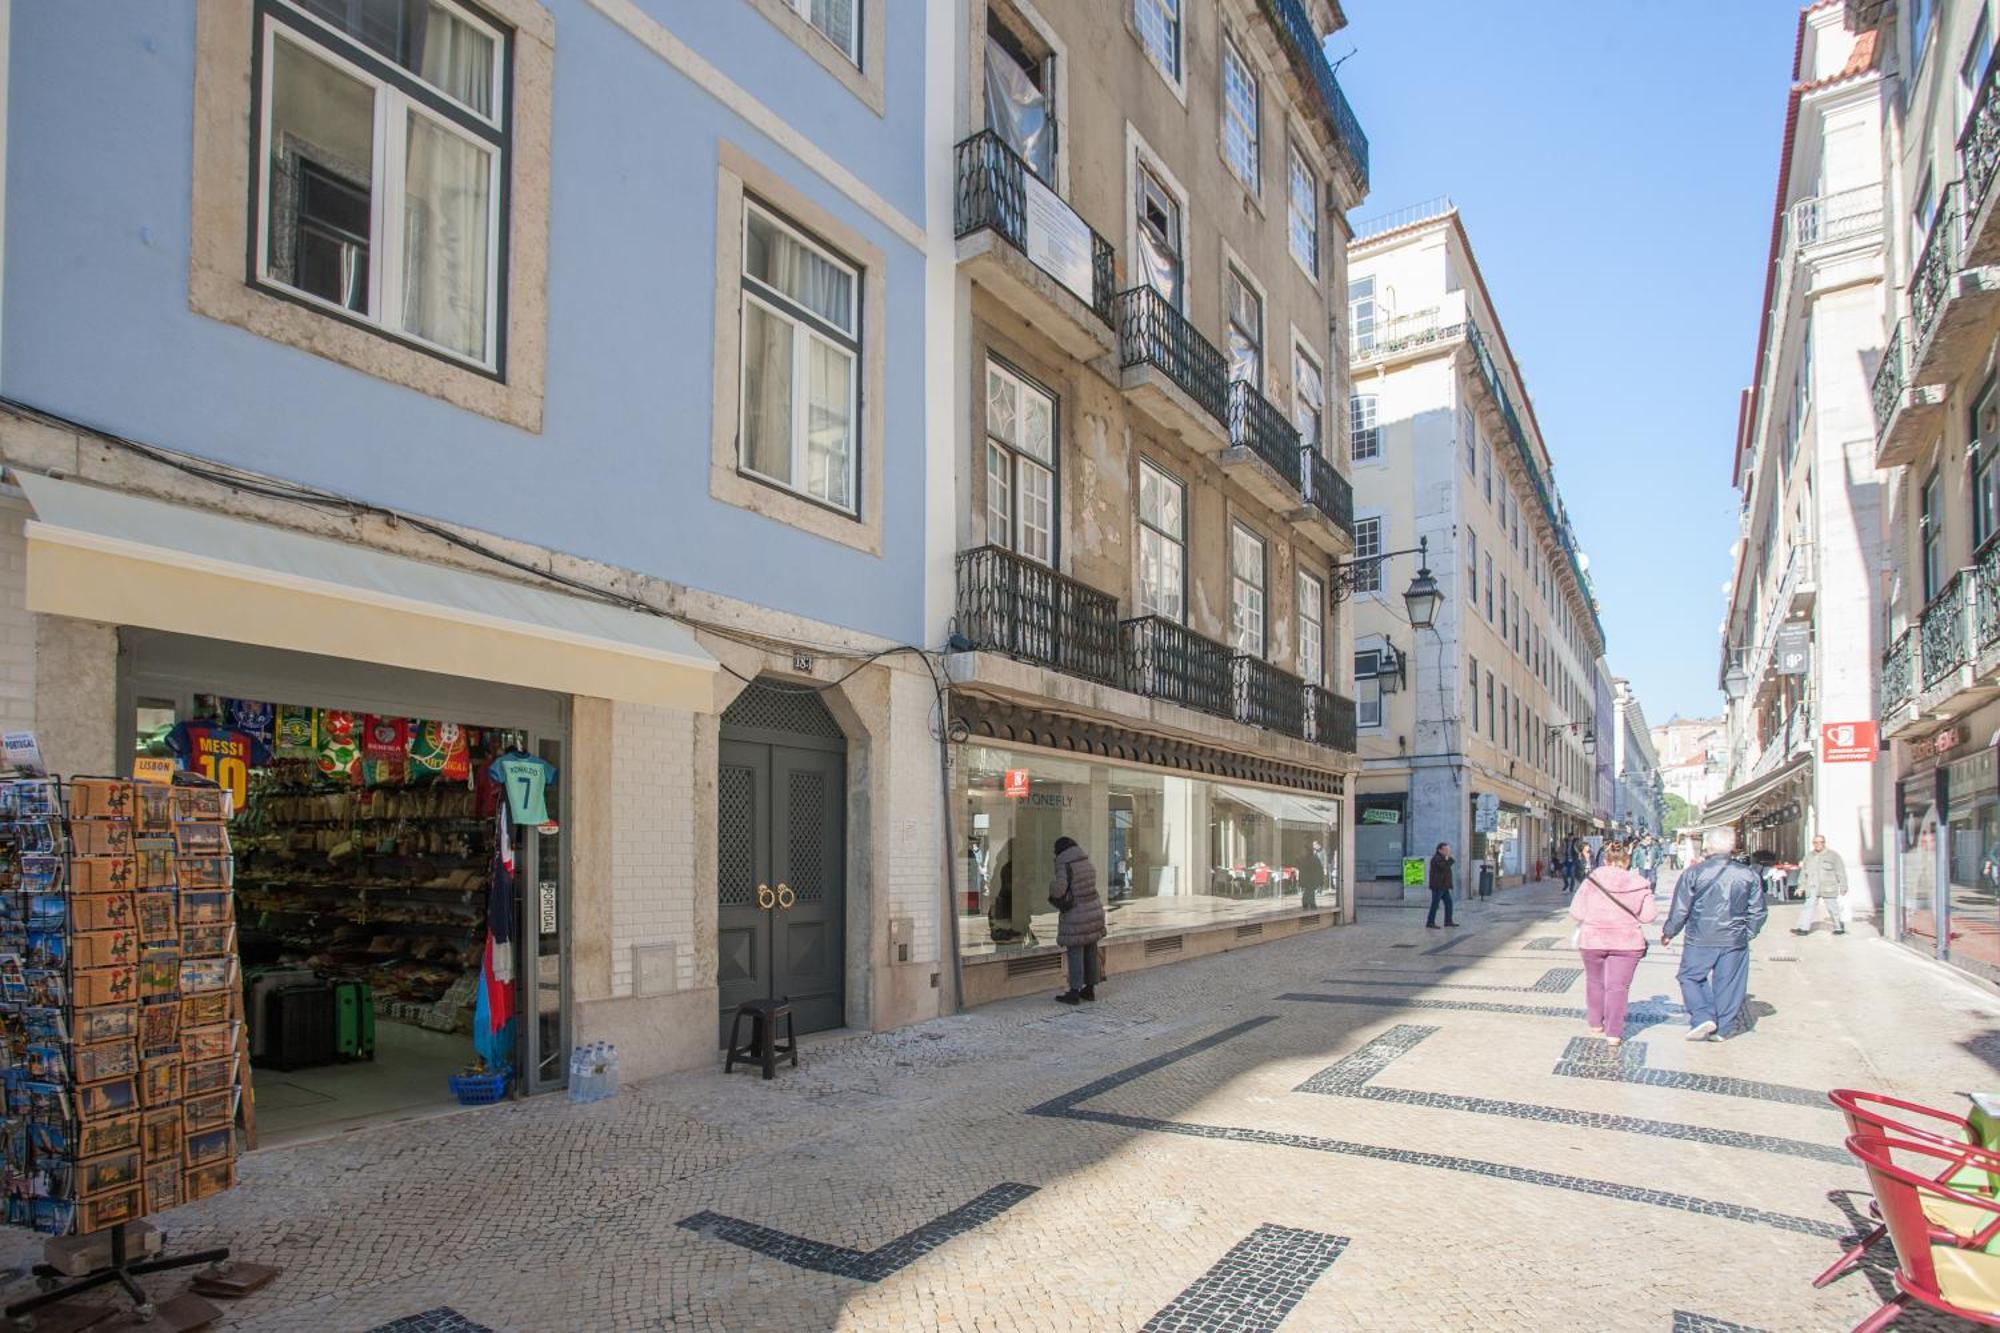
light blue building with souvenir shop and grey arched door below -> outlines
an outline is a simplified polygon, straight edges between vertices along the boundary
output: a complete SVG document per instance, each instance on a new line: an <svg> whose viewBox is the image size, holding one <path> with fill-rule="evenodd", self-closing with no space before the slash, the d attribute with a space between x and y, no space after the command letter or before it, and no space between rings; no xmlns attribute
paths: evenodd
<svg viewBox="0 0 2000 1333"><path fill-rule="evenodd" d="M318 763L248 775L264 827L418 785L344 767L344 719L556 763L508 835L528 1091L578 1041L706 1063L742 1001L950 1003L930 20L886 10L0 0L0 721L102 773L296 709ZM266 871L240 911L282 923L310 877ZM368 973L320 927L246 929L246 967ZM460 1031L416 971L378 1009Z"/></svg>

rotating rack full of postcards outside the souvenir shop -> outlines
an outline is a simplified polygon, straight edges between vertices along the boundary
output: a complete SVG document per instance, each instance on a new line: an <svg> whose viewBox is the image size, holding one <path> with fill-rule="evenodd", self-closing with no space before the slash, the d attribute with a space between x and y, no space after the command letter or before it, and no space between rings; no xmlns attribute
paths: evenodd
<svg viewBox="0 0 2000 1333"><path fill-rule="evenodd" d="M0 781L4 1221L52 1237L42 1291L4 1311L14 1327L94 1323L108 1311L32 1315L110 1285L140 1321L198 1327L220 1311L196 1293L244 1295L274 1275L222 1267L228 1249L134 1253L146 1239L130 1231L236 1183L246 1043L228 819L230 793L186 775ZM158 1305L138 1283L190 1267L208 1271Z"/></svg>

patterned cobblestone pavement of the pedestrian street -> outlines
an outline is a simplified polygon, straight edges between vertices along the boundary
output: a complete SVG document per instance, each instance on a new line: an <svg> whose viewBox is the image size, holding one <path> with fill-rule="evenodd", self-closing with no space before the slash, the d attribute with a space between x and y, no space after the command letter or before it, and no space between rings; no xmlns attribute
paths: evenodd
<svg viewBox="0 0 2000 1333"><path fill-rule="evenodd" d="M1654 949L1610 1051L1562 907L1506 891L1442 933L1366 905L1084 1009L812 1043L774 1083L254 1153L162 1225L280 1265L226 1315L288 1333L1852 1327L1888 1275L1808 1285L1866 1209L1824 1089L2000 1085L2000 1005L1776 913L1752 1033L1680 1041Z"/></svg>

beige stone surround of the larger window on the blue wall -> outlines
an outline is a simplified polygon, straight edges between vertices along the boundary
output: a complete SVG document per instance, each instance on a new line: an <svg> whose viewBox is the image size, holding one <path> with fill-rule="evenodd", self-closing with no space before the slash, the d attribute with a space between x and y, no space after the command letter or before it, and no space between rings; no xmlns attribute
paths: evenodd
<svg viewBox="0 0 2000 1333"><path fill-rule="evenodd" d="M506 224L504 374L426 352L384 330L354 324L258 286L252 252L250 124L254 0L196 6L194 208L188 308L262 338L336 360L454 406L540 434L548 342L548 180L556 24L536 0L482 0L512 28L514 80Z"/></svg>

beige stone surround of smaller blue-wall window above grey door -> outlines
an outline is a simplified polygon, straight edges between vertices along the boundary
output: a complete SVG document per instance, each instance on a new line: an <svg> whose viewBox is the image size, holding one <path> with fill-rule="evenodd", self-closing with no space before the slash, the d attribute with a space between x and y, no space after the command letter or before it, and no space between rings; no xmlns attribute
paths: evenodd
<svg viewBox="0 0 2000 1333"><path fill-rule="evenodd" d="M876 8L876 6L870 6ZM716 368L708 446L708 494L754 514L788 522L830 542L882 554L882 472L886 468L882 398L886 380L884 312L888 260L852 226L814 204L778 172L728 140L716 144ZM748 476L738 460L742 350L742 214L744 198L762 200L794 226L840 250L862 274L860 368L860 512L848 514L804 494Z"/></svg>

